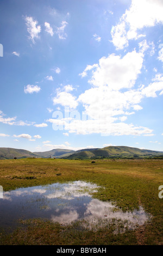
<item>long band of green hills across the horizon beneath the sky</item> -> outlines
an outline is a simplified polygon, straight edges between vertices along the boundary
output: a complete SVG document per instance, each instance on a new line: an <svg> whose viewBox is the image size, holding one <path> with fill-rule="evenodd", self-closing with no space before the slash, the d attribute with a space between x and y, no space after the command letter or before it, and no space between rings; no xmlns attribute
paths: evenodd
<svg viewBox="0 0 163 256"><path fill-rule="evenodd" d="M45 152L30 152L24 149L0 148L0 160L27 157L61 158L61 159L101 159L101 158L142 158L163 157L162 151L131 148L125 146L109 146L105 148L68 150L53 149Z"/></svg>

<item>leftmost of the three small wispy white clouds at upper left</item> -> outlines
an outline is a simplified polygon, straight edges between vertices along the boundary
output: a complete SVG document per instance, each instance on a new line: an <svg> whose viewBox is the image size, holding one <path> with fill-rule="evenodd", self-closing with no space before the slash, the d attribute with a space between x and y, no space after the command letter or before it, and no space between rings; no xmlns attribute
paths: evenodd
<svg viewBox="0 0 163 256"><path fill-rule="evenodd" d="M33 17L25 17L27 31L29 33L29 39L32 40L33 44L35 43L34 38L39 38L39 33L41 32L41 26L37 26L38 21L33 20Z"/></svg>

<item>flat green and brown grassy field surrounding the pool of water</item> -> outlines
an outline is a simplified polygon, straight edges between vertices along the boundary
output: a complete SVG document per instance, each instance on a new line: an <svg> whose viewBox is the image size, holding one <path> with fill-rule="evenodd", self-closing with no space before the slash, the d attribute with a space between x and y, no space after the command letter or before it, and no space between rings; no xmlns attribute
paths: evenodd
<svg viewBox="0 0 163 256"><path fill-rule="evenodd" d="M115 202L123 211L142 205L151 221L135 230L115 234L115 222L96 231L81 229L80 222L60 225L27 220L24 228L0 234L1 245L163 245L163 160L0 160L4 191L18 187L83 180L101 188L93 197ZM122 223L119 223L122 225Z"/></svg>

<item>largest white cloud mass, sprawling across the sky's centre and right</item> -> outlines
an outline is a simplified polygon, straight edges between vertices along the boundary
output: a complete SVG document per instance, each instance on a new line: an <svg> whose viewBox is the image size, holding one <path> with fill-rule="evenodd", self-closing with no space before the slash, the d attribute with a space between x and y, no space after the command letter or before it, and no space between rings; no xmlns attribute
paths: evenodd
<svg viewBox="0 0 163 256"><path fill-rule="evenodd" d="M146 50L144 41L141 45ZM78 96L72 95L71 87L60 89L53 99L54 103L71 108L81 104L84 114L78 111L70 112L69 118L53 117L47 122L52 123L53 129L57 126L60 130L76 134L101 133L102 136L154 136L153 130L141 125L127 124L129 115L142 109L141 102L145 97L163 94L163 77L156 74L151 84L137 86L136 81L141 74L143 52L128 52L123 57L110 54L99 59L98 64L87 65L82 77L88 76L90 89ZM136 84L136 86L135 86ZM57 119L56 119L57 118Z"/></svg>

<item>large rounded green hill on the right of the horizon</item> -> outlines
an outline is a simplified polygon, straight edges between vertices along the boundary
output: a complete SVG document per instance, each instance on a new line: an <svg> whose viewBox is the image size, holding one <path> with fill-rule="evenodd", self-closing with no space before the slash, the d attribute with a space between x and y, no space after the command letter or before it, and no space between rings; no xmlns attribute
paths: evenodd
<svg viewBox="0 0 163 256"><path fill-rule="evenodd" d="M131 148L125 146L109 146L102 149L84 149L66 156L66 159L98 159L98 158L140 158L163 157L163 152L148 149Z"/></svg>

